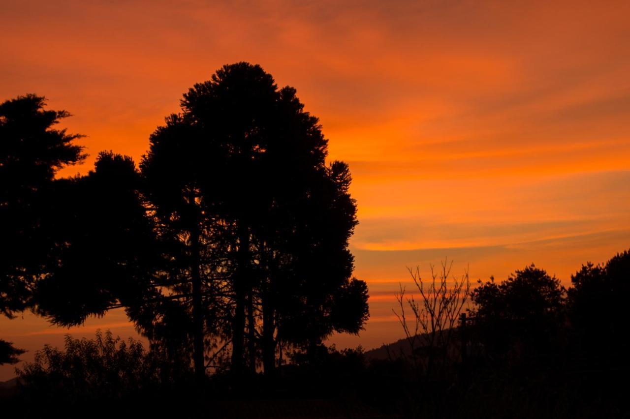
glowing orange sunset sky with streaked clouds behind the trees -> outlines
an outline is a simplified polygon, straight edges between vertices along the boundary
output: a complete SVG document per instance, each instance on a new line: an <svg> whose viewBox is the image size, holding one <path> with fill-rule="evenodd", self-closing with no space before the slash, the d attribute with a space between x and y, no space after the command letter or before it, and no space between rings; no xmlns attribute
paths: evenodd
<svg viewBox="0 0 630 419"><path fill-rule="evenodd" d="M629 2L173 3L3 1L0 99L36 92L75 115L64 126L88 135L91 159L74 174L103 149L139 159L222 64L296 87L354 177L372 319L339 345L399 337L406 266L448 256L458 274L502 279L536 262L568 284L630 247ZM72 332L98 325L133 333L123 313ZM0 319L31 354L64 332Z"/></svg>

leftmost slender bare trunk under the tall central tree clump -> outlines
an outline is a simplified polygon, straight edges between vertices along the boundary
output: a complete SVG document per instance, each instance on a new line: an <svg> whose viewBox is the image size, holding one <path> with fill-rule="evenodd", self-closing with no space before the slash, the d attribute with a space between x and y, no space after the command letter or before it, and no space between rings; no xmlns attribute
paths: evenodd
<svg viewBox="0 0 630 419"><path fill-rule="evenodd" d="M194 205L194 201L192 204ZM199 272L199 228L196 216L194 221L195 223L190 230L190 253L192 255L190 276L193 286L193 361L195 364L195 376L197 377L197 381L199 383L203 383L203 379L205 377L205 363L203 360L203 308L201 276Z"/></svg>

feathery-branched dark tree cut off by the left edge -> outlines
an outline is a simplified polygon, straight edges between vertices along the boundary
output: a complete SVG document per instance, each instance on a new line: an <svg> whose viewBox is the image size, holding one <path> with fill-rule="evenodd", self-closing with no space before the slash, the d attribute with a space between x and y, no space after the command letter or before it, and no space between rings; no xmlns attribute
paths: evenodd
<svg viewBox="0 0 630 419"><path fill-rule="evenodd" d="M9 318L30 304L49 252L41 221L55 173L84 158L73 143L81 135L53 128L70 114L44 106L35 94L0 104L0 312Z"/></svg>

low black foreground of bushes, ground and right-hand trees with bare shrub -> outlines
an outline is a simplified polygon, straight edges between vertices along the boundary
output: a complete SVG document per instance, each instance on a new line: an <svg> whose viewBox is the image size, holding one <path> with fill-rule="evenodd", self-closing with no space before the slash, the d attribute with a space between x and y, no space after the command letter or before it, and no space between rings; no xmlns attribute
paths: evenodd
<svg viewBox="0 0 630 419"><path fill-rule="evenodd" d="M225 369L202 386L190 363L159 349L110 333L67 337L64 350L46 347L25 364L7 402L31 415L100 405L179 417L627 417L629 276L630 252L584 265L569 289L532 265L478 284L469 309L466 277L416 276L416 299L403 293L397 313L406 309L406 330L418 334L368 352L295 350L273 377Z"/></svg>

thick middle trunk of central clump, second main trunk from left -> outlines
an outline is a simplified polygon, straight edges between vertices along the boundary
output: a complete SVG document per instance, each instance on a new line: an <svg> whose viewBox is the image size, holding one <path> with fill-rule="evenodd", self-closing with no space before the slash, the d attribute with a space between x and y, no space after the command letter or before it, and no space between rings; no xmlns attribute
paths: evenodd
<svg viewBox="0 0 630 419"><path fill-rule="evenodd" d="M249 264L249 232L239 225L239 247L237 252L237 272L234 276L236 308L232 320L232 373L243 374L243 347L245 334L245 305L247 267Z"/></svg>

